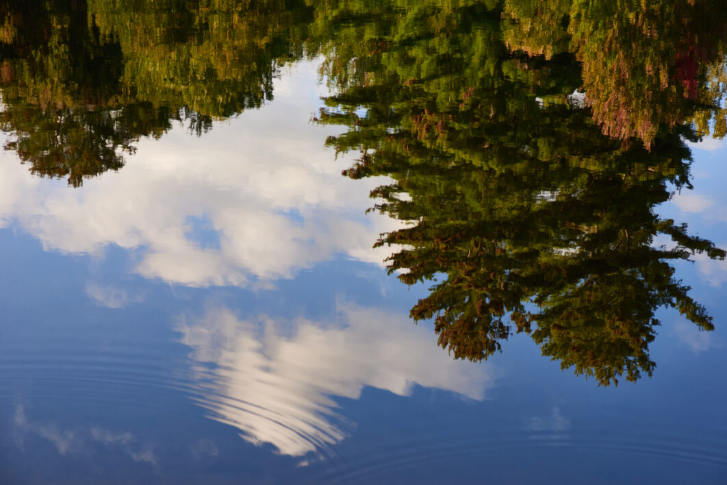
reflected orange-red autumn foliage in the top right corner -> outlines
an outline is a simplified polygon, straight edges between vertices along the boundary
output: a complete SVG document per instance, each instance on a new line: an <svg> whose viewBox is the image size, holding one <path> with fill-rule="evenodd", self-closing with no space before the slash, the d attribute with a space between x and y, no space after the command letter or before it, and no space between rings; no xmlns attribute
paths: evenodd
<svg viewBox="0 0 727 485"><path fill-rule="evenodd" d="M593 117L606 135L639 137L648 148L660 124L693 121L699 135L726 131L721 0L507 0L510 49L550 57L574 52ZM694 106L702 104L697 116Z"/></svg>

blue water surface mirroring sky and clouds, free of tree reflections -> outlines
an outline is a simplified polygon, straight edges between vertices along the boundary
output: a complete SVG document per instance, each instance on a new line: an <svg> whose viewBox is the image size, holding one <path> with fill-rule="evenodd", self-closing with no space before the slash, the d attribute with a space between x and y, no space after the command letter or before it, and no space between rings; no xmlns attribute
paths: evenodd
<svg viewBox="0 0 727 485"><path fill-rule="evenodd" d="M1 154L0 483L727 481L724 262L676 265L716 329L660 311L651 378L598 387L523 334L455 361L371 249L377 180L308 123L315 63L276 82L82 188ZM659 209L724 247L727 145L693 152Z"/></svg>

